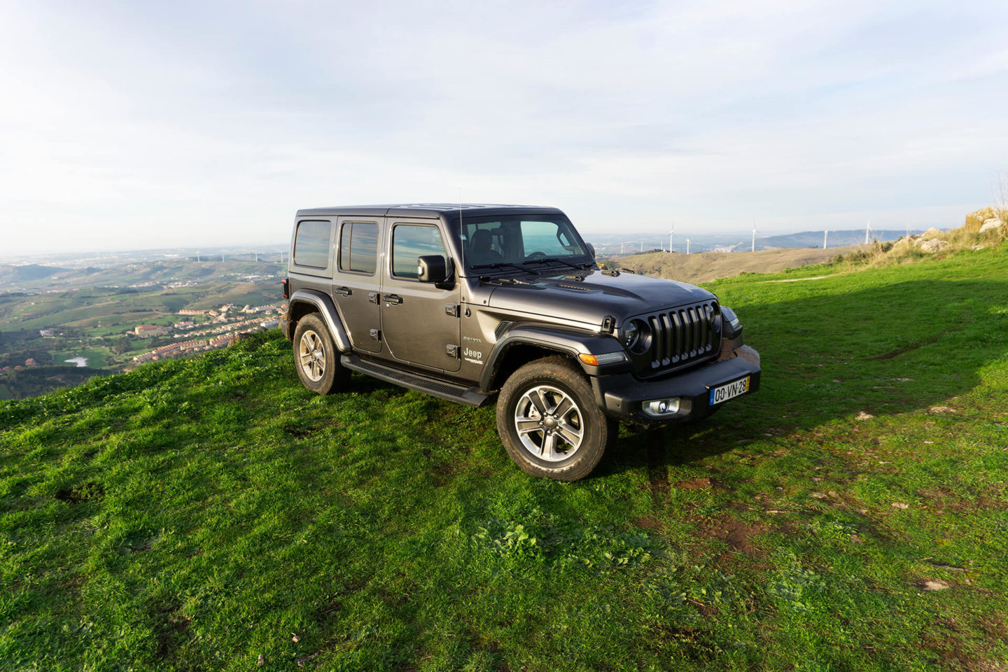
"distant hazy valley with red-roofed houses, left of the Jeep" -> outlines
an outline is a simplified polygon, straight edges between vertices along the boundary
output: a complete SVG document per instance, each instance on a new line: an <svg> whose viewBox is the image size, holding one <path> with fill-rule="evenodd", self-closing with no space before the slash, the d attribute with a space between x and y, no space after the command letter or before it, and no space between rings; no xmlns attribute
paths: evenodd
<svg viewBox="0 0 1008 672"><path fill-rule="evenodd" d="M224 347L240 330L262 328L282 301L286 267L273 256L0 266L0 399Z"/></svg>

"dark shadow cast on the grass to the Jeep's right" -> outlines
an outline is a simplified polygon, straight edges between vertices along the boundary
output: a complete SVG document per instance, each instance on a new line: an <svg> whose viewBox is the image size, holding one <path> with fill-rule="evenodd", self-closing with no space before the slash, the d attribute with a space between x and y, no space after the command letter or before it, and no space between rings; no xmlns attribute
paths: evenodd
<svg viewBox="0 0 1008 672"><path fill-rule="evenodd" d="M1008 355L1008 283L909 281L844 294L739 304L761 356L760 389L685 425L624 430L592 478L745 449L859 413L885 416L954 403Z"/></svg>

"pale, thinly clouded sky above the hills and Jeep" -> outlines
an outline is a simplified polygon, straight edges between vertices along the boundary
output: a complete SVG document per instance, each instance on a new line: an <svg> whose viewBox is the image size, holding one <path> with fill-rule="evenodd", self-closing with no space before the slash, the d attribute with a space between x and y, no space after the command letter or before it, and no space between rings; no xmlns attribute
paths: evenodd
<svg viewBox="0 0 1008 672"><path fill-rule="evenodd" d="M583 233L955 227L1008 179L1008 3L0 0L0 256L299 208Z"/></svg>

